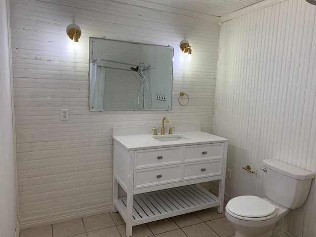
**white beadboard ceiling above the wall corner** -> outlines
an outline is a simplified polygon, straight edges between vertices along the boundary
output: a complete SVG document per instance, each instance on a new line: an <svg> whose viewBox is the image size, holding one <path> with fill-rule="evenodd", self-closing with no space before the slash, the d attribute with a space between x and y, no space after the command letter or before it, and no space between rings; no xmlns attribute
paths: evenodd
<svg viewBox="0 0 316 237"><path fill-rule="evenodd" d="M126 0L116 0L126 1ZM212 16L224 16L262 0L133 0L133 4L160 9L182 10ZM126 3L131 3L127 0Z"/></svg>

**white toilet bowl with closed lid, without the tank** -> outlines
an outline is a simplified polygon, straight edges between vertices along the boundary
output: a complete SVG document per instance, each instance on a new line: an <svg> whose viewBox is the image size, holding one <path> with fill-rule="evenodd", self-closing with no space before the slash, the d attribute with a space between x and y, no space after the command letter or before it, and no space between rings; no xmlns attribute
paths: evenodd
<svg viewBox="0 0 316 237"><path fill-rule="evenodd" d="M282 217L290 209L268 198L239 196L231 199L225 210L226 218L237 230L235 237L277 237Z"/></svg>

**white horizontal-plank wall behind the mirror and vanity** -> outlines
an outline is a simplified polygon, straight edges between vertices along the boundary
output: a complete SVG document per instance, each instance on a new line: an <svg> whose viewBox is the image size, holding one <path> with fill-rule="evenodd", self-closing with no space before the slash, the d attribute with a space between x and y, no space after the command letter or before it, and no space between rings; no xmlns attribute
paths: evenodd
<svg viewBox="0 0 316 237"><path fill-rule="evenodd" d="M112 126L167 116L212 132L219 19L130 2L10 0L21 229L110 210ZM69 49L71 23L82 31L78 51ZM104 36L175 47L171 111L88 111L88 37ZM187 106L178 104L180 91ZM68 121L60 109L69 109Z"/></svg>

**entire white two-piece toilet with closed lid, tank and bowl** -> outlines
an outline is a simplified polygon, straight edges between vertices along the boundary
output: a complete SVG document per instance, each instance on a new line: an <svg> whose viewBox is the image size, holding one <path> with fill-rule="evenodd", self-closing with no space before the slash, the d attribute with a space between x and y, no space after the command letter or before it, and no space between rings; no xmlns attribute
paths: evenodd
<svg viewBox="0 0 316 237"><path fill-rule="evenodd" d="M239 196L226 205L235 237L277 237L282 217L302 206L309 194L314 173L276 159L263 160L263 166L267 198Z"/></svg>

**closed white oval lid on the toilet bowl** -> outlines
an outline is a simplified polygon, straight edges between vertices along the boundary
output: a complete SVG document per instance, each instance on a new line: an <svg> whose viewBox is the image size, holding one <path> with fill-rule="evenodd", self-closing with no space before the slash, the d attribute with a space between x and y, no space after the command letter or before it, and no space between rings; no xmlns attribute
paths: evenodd
<svg viewBox="0 0 316 237"><path fill-rule="evenodd" d="M239 196L231 199L226 208L242 217L265 217L276 212L276 206L257 196Z"/></svg>

